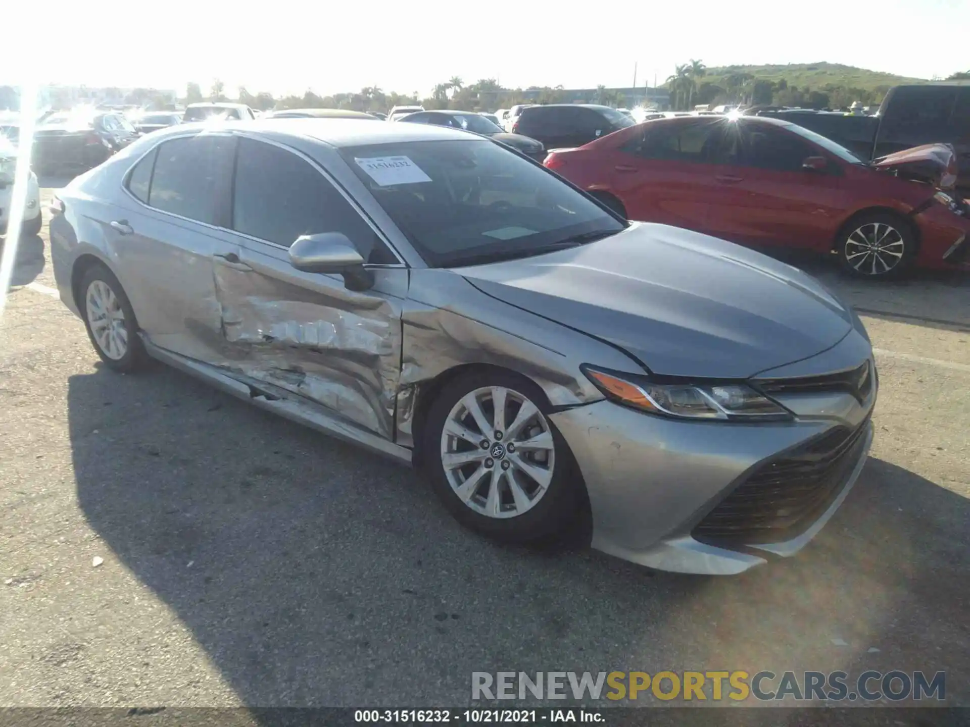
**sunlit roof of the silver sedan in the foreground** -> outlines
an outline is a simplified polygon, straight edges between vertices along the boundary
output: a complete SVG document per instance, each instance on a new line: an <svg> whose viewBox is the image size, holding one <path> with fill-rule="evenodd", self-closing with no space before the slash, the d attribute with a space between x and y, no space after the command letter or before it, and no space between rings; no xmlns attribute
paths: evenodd
<svg viewBox="0 0 970 727"><path fill-rule="evenodd" d="M152 134L154 139L179 136L192 126L179 124L168 131ZM257 118L252 121L228 121L214 127L218 131L239 130L246 135L268 138L294 137L312 139L331 146L361 146L376 143L433 142L438 140L486 141L460 129L430 124L375 124L368 118ZM156 134L159 136L156 137Z"/></svg>

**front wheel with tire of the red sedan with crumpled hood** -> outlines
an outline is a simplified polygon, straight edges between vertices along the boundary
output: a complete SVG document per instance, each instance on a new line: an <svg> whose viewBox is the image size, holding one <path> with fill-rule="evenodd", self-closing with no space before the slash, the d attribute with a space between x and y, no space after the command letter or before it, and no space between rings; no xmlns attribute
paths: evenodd
<svg viewBox="0 0 970 727"><path fill-rule="evenodd" d="M868 245L874 245L868 247ZM912 225L891 212L870 212L852 220L835 242L839 263L860 278L888 280L906 274L916 257Z"/></svg>

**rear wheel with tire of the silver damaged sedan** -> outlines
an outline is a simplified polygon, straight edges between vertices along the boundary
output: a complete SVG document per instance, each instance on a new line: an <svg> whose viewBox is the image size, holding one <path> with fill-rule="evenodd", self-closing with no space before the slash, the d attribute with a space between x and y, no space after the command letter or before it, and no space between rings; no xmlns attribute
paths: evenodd
<svg viewBox="0 0 970 727"><path fill-rule="evenodd" d="M101 360L115 371L131 373L148 361L138 321L121 283L99 264L84 271L79 286L87 337Z"/></svg>

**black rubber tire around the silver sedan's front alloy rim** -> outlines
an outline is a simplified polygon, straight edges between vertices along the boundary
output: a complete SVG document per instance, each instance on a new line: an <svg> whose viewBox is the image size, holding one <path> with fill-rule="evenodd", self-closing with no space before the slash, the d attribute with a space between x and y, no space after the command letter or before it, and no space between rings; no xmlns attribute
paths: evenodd
<svg viewBox="0 0 970 727"><path fill-rule="evenodd" d="M452 409L458 406L458 403L471 392L490 387L502 387L515 395L528 398L542 417L541 422L537 419L533 420L536 423L534 427L548 427L554 446L551 480L544 492L535 499L531 509L525 510L519 515L501 519L483 515L466 504L449 482L441 461L443 429ZM512 411L517 403L511 398L509 401L512 401L509 405L509 411ZM513 544L551 540L577 522L577 516L582 512L582 504L585 502L585 488L579 474L579 468L566 444L566 440L548 419L550 410L551 407L545 395L533 382L523 376L498 368L483 369L459 376L442 388L429 410L428 419L422 432L423 470L438 499L458 522L490 538ZM508 422L508 424L511 425L512 423ZM534 431L535 428L532 430ZM532 435L530 434L530 436ZM489 436L488 441L490 442L489 451L491 453L491 446L496 441L493 436ZM513 438L513 444L515 441ZM469 448L469 451L470 449L473 448ZM511 451L506 454L509 463L515 461L512 459ZM523 452L515 455L517 458L524 456L529 455ZM498 470L499 464L499 461L494 462L493 466L496 470ZM474 468L478 465L472 463L469 466ZM483 463L482 466L485 466L485 464ZM510 469L515 469L515 465L512 465ZM516 472L515 476L520 482L523 481L520 472ZM469 479L471 478L469 477ZM532 482L528 476L525 481ZM490 475L483 477L481 482L488 490L493 487ZM506 500L512 498L510 488L511 485L508 480L504 480L504 484L500 485L503 498ZM474 497L469 499L474 499ZM513 507L512 503L508 503L508 506ZM517 508L518 506L514 505L514 507Z"/></svg>

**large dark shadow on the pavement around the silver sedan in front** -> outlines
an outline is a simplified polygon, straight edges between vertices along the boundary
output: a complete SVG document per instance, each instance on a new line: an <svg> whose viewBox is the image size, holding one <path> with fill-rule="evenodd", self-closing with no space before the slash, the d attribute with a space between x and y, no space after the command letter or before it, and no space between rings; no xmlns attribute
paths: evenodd
<svg viewBox="0 0 970 727"><path fill-rule="evenodd" d="M162 366L67 403L84 517L246 706L468 705L474 671L968 673L970 503L887 461L796 557L706 578L494 545L410 470Z"/></svg>

